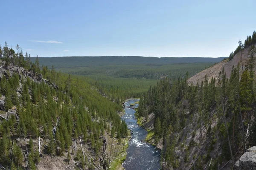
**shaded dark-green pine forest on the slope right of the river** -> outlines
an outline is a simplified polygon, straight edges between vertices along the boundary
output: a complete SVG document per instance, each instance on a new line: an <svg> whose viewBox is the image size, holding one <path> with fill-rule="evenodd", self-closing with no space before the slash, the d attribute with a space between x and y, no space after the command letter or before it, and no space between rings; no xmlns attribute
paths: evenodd
<svg viewBox="0 0 256 170"><path fill-rule="evenodd" d="M143 94L138 116L145 122L155 116L151 142L163 145L163 169L232 169L256 145L256 47L248 43L245 67L233 66L230 79L223 69L216 79L208 82L206 75L190 85L187 73L163 79Z"/></svg>

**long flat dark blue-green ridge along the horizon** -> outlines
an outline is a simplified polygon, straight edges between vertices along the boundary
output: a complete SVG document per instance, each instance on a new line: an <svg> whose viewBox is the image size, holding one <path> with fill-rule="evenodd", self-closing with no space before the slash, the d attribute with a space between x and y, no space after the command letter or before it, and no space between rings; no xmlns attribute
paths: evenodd
<svg viewBox="0 0 256 170"><path fill-rule="evenodd" d="M225 57L141 57L141 56L84 56L84 57L39 57L41 65L55 68L86 67L99 65L138 65L138 64L177 64L177 63L216 63ZM35 57L31 58L35 62Z"/></svg>

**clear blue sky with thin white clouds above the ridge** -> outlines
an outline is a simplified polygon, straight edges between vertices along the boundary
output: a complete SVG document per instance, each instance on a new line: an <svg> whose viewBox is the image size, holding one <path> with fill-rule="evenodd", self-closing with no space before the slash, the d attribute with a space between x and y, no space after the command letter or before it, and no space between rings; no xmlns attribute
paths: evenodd
<svg viewBox="0 0 256 170"><path fill-rule="evenodd" d="M256 0L3 0L0 44L39 57L228 56Z"/></svg>

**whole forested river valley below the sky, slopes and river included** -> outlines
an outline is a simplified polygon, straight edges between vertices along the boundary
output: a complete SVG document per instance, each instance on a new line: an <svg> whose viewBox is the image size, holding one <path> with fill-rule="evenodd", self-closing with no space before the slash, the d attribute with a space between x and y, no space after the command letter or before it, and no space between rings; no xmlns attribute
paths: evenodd
<svg viewBox="0 0 256 170"><path fill-rule="evenodd" d="M226 59L71 57L70 67L58 57L49 69L41 62L52 58L24 57L6 42L0 167L231 169L256 145L255 54L252 44Z"/></svg>

